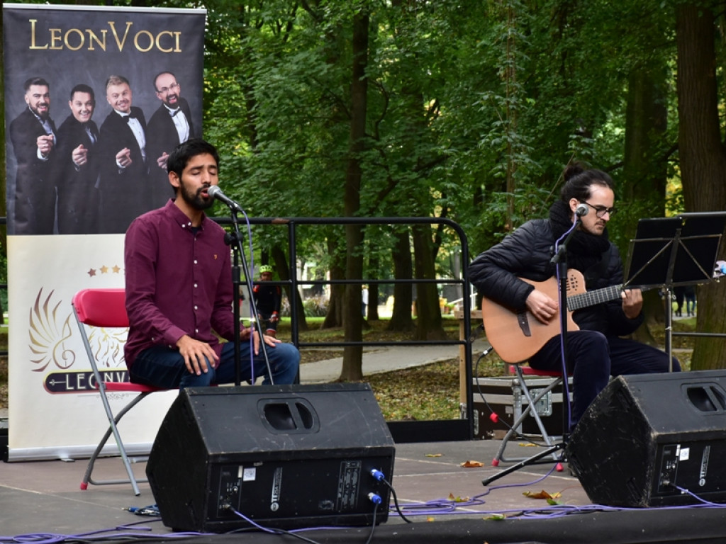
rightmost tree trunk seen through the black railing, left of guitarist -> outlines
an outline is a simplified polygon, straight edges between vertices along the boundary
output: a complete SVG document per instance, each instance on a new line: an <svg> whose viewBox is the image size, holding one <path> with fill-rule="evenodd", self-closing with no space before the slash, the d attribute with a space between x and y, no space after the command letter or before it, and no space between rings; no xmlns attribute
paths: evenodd
<svg viewBox="0 0 726 544"><path fill-rule="evenodd" d="M435 279L433 252L431 251L431 227L428 225L413 226L414 268L417 278ZM441 323L439 292L436 284L416 284L416 332L417 340L446 339Z"/></svg>

